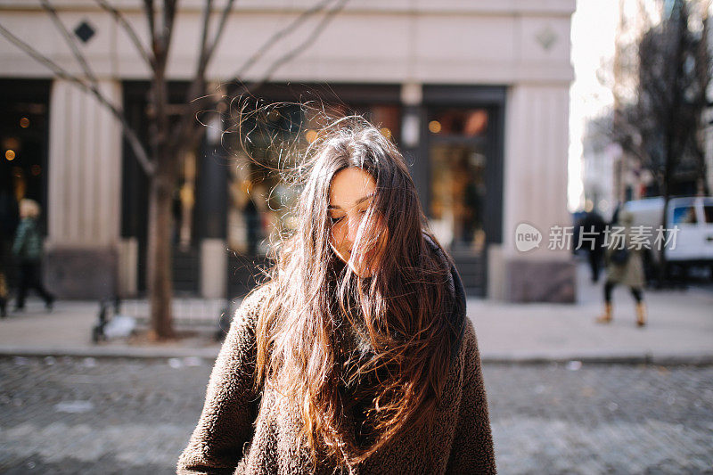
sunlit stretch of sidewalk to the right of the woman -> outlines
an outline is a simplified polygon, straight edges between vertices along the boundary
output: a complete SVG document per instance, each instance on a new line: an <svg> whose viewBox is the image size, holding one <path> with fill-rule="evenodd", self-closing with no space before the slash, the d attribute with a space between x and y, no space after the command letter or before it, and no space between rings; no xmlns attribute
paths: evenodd
<svg viewBox="0 0 713 475"><path fill-rule="evenodd" d="M634 298L620 286L613 291L613 321L594 323L603 310L602 289L602 279L591 283L580 263L576 305L469 300L483 359L713 364L713 286L644 291L643 328L635 326Z"/></svg>

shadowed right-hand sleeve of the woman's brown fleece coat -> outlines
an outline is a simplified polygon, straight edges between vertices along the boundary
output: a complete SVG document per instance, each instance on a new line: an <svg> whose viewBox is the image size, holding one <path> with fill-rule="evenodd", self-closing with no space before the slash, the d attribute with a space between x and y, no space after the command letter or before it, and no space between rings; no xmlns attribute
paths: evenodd
<svg viewBox="0 0 713 475"><path fill-rule="evenodd" d="M496 473L496 458L488 416L475 331L467 319L463 334L463 391L448 459L447 473Z"/></svg>

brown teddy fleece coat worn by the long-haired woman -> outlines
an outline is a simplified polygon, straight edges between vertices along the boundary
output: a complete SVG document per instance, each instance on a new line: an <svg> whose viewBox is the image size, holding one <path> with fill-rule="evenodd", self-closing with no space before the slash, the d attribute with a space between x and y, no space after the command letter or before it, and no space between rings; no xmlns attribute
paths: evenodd
<svg viewBox="0 0 713 475"><path fill-rule="evenodd" d="M243 300L210 375L198 426L178 460L177 473L235 474L436 474L495 473L496 463L478 344L465 316L463 285L451 267L451 317L463 328L435 422L407 430L354 467L312 463L300 446L299 412L274 390L253 389L255 325L267 287ZM457 327L456 327L457 328Z"/></svg>

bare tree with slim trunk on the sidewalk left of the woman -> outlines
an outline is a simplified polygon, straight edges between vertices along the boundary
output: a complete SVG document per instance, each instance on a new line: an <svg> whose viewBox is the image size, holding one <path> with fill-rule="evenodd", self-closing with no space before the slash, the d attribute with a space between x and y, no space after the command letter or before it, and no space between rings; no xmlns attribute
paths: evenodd
<svg viewBox="0 0 713 475"><path fill-rule="evenodd" d="M57 78L69 80L86 92L93 94L96 100L119 120L123 135L126 137L136 160L143 168L143 172L148 176L150 184L147 283L151 303L152 332L157 339L172 338L175 333L171 316L173 285L169 230L171 199L178 173L178 158L184 152L193 150L205 133L205 127L201 125L197 115L201 111L216 111L217 103L225 100L225 98L216 97L215 94L209 94L206 71L225 30L225 23L233 13L234 0L225 0L222 8L217 8L212 0L205 0L201 16L201 45L195 64L195 72L185 94L180 117L177 120L169 120L168 78L166 75L171 38L175 33L174 26L178 10L177 0L164 0L159 5L155 4L154 0L143 0L143 14L149 29L149 45L142 43L122 12L108 0L94 1L104 12L111 15L121 29L124 29L132 45L134 45L136 53L151 71L148 108L151 127L148 146L139 139L139 135L127 120L127 116L121 107L102 94L90 64L78 48L78 38L64 26L60 15L50 0L40 0L40 2L45 12L53 20L55 27L61 32L67 45L69 45L72 54L81 67L82 75L72 74L45 54L37 51L32 45L12 34L12 31L4 28L1 24L0 34L12 44L18 46L23 52L52 70ZM265 76L252 86L253 90L255 86L269 81L276 70L286 62L291 61L300 52L304 51L307 45L316 40L334 15L343 9L347 1L319 0L312 7L301 12L282 29L275 31L275 34L267 38L266 42L255 53L250 55L250 58L238 69L236 76L226 80L242 84L242 77L247 70L280 39L302 27L311 17L321 16L321 20L307 35L306 39L291 47L268 66ZM247 91L247 89L247 86L243 86L242 92Z"/></svg>

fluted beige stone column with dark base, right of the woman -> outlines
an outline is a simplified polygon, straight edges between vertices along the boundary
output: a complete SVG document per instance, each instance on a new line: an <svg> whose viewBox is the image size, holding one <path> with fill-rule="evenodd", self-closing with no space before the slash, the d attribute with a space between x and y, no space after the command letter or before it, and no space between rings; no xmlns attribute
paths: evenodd
<svg viewBox="0 0 713 475"><path fill-rule="evenodd" d="M569 226L567 84L512 86L506 104L503 245L489 252L488 295L514 302L572 302L570 250L549 250L553 226ZM534 226L537 248L518 250L516 229Z"/></svg>

